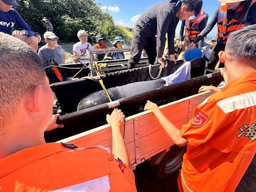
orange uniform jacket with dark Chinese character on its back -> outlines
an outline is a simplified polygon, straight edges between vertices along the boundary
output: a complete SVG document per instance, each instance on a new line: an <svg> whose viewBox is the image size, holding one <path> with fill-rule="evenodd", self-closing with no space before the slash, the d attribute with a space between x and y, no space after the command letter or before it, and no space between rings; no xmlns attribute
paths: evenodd
<svg viewBox="0 0 256 192"><path fill-rule="evenodd" d="M256 72L231 81L180 130L184 191L234 191L256 151Z"/></svg>

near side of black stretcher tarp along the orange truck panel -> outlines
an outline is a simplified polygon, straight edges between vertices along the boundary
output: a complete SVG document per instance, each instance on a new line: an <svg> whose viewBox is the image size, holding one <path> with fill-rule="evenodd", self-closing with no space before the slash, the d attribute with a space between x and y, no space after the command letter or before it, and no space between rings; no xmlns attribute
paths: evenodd
<svg viewBox="0 0 256 192"><path fill-rule="evenodd" d="M223 80L220 72L195 77L180 83L172 84L145 92L136 96L119 99L121 109L126 116L143 111L146 100L156 102L158 105L166 104L198 92L202 85L218 85ZM107 103L100 104L88 109L75 111L61 115L59 123L64 123L61 129L55 129L45 133L47 141L56 141L68 136L95 128L106 123L105 115L111 113Z"/></svg>

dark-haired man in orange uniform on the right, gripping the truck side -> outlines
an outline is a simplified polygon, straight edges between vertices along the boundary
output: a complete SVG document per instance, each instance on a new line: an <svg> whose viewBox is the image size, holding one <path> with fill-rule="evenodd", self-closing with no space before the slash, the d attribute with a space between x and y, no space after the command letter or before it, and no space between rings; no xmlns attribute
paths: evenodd
<svg viewBox="0 0 256 192"><path fill-rule="evenodd" d="M179 130L153 102L150 109L177 145L187 144L179 191L234 191L256 152L256 24L230 33L224 51L226 86L194 110Z"/></svg>

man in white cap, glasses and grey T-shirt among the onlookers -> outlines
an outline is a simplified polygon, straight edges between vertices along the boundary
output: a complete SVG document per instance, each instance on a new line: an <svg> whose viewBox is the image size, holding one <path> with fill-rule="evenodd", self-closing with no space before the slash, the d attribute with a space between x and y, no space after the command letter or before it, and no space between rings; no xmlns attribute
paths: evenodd
<svg viewBox="0 0 256 192"><path fill-rule="evenodd" d="M41 59L45 61L54 58L58 64L64 64L66 56L64 50L57 44L58 37L53 32L46 31L43 38L46 44L38 50Z"/></svg>

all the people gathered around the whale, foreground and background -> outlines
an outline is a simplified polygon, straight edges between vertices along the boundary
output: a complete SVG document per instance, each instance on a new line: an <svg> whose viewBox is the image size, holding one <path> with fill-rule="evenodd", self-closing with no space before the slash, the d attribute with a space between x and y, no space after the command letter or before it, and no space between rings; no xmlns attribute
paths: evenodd
<svg viewBox="0 0 256 192"><path fill-rule="evenodd" d="M187 145L177 179L179 191L234 191L256 153L256 0L218 1L221 5L207 25L202 0L158 3L134 25L128 68L138 62L142 49L148 63L157 58L164 67L166 33L170 61L176 61L175 51L182 54L198 43L205 51L212 49L209 68L214 68L217 60L223 63L225 87L210 87L216 93L195 108L181 129L155 103L148 100L144 106L176 145ZM124 120L121 110L106 115L112 129L112 150L45 142L45 131L63 125L56 123L58 115L52 115L53 92L42 60L55 58L64 63L65 53L43 18L49 31L43 34L46 44L40 44L37 54L41 36L31 30L13 5L17 5L15 0L0 0L0 191L136 191L120 130ZM179 20L183 24L174 43ZM14 30L14 23L22 30ZM202 40L216 23L217 39L203 47ZM77 37L73 54L88 55L92 45L87 42L86 31L79 30ZM123 42L116 36L112 44L120 48ZM108 48L104 37L98 36L94 48ZM93 59L105 56L109 55L96 54ZM119 52L110 57L123 59L124 55Z"/></svg>

